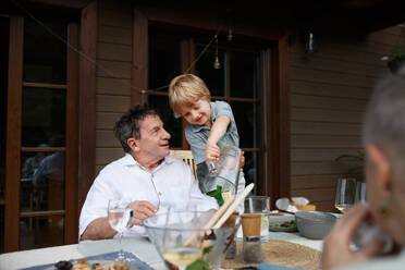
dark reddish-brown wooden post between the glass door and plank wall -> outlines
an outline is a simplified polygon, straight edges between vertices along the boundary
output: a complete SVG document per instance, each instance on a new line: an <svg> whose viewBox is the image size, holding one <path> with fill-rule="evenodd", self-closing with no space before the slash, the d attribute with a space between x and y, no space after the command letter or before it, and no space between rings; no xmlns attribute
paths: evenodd
<svg viewBox="0 0 405 270"><path fill-rule="evenodd" d="M89 59L96 60L98 1L82 11L81 48ZM86 199L96 170L96 65L79 58L78 97L78 209Z"/></svg>

